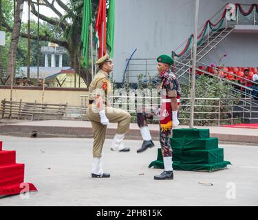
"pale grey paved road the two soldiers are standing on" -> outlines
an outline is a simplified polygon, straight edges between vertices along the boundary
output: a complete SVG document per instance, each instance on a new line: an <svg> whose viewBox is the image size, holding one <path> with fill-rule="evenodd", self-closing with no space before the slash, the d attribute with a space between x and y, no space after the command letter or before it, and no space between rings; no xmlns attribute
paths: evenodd
<svg viewBox="0 0 258 220"><path fill-rule="evenodd" d="M17 151L25 163L25 181L39 192L0 199L0 206L257 206L258 147L220 144L233 165L213 173L175 170L175 179L155 181L162 170L148 168L156 147L137 154L141 142L126 140L129 153L110 151L106 140L103 167L109 179L92 179L92 139L0 137L3 148ZM231 184L233 183L233 184ZM213 186L205 186L213 184ZM228 187L228 188L227 188ZM235 199L228 199L227 195ZM232 192L232 193L231 193Z"/></svg>

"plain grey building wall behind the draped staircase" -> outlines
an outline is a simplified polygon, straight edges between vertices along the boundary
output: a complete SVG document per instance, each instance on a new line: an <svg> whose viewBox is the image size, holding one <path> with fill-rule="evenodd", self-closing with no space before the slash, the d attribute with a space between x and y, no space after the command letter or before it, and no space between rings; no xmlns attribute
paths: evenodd
<svg viewBox="0 0 258 220"><path fill-rule="evenodd" d="M228 1L200 0L199 26L202 27L208 19L218 12ZM239 1L230 1L239 3ZM241 3L258 3L257 0L242 0ZM116 82L122 81L126 67L126 59L137 48L133 58L156 58L160 54L171 54L180 43L194 32L195 1L194 0L120 0L116 1L115 23L115 54L113 78ZM235 34L233 40L224 42L224 47L242 51L244 59L237 59L235 50L228 49L228 65L257 66L252 50L247 52L246 47L255 40L255 36L247 34L244 39L250 41L241 43L241 34ZM248 46L247 46L248 45ZM226 50L222 47L221 50ZM219 48L219 47L217 47ZM221 51L211 53L210 60L214 60ZM237 59L237 61L236 61ZM239 63L241 62L241 63Z"/></svg>

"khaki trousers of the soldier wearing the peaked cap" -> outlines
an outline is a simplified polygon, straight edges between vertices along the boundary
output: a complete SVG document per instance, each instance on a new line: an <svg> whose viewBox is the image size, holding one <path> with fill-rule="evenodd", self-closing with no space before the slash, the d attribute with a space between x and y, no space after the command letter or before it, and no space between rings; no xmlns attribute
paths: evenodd
<svg viewBox="0 0 258 220"><path fill-rule="evenodd" d="M106 107L105 114L109 119L109 122L118 123L116 133L123 134L129 131L131 115L127 111ZM88 118L92 122L92 131L94 136L93 157L101 157L107 125L100 123L98 109L93 104L92 106L89 106Z"/></svg>

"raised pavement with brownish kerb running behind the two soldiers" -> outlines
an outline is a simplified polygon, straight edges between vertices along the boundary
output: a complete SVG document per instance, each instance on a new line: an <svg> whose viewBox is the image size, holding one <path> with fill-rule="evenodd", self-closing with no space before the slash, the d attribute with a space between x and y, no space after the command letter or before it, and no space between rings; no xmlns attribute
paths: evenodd
<svg viewBox="0 0 258 220"><path fill-rule="evenodd" d="M117 124L111 123L107 126L107 137L114 137ZM158 124L149 124L151 135L154 140L159 140ZM189 126L180 125L177 129ZM211 137L219 137L220 142L235 143L258 143L258 129L227 128L219 126L195 126L195 128L209 129ZM88 121L28 121L11 124L0 124L0 135L14 135L30 137L36 133L38 137L93 137L92 124ZM140 129L136 123L130 124L129 133L126 138L142 140Z"/></svg>

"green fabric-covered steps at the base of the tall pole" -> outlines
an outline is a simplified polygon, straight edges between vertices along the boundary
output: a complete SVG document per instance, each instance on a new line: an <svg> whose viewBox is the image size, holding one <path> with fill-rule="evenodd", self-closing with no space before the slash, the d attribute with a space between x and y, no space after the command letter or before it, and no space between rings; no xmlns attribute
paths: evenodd
<svg viewBox="0 0 258 220"><path fill-rule="evenodd" d="M175 129L171 138L173 169L214 171L226 168L224 149L218 147L218 138L210 137L209 129ZM149 168L164 168L161 148Z"/></svg>

